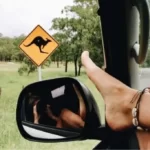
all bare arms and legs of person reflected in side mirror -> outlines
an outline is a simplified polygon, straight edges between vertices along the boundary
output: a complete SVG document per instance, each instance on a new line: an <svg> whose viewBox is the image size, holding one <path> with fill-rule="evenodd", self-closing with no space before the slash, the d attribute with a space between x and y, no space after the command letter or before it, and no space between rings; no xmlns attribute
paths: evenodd
<svg viewBox="0 0 150 150"><path fill-rule="evenodd" d="M79 108L78 112L74 113L71 109L63 108L60 111L60 114L54 115L51 109L51 105L46 104L45 107L45 114L52 120L56 121L57 128L83 128L85 124L85 117L86 117L86 106L81 96L79 90L75 85L73 85L73 89L78 97L79 101ZM37 111L37 105L40 100L36 100L33 104L33 115L34 115L34 123L39 124L39 120L42 117L41 113ZM44 107L44 106L41 106ZM47 118L48 121L48 118ZM43 122L41 122L43 124ZM51 124L49 124L51 125Z"/></svg>

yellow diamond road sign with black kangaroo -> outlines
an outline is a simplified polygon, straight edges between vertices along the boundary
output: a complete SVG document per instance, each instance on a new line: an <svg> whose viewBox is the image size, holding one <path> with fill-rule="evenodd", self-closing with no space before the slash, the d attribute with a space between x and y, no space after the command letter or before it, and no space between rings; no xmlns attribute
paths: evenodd
<svg viewBox="0 0 150 150"><path fill-rule="evenodd" d="M38 25L19 47L37 66L40 66L58 47L58 43Z"/></svg>

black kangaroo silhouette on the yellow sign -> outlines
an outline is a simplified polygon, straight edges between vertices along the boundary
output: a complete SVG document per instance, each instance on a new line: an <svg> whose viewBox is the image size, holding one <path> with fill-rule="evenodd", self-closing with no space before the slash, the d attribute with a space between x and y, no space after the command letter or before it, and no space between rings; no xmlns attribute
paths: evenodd
<svg viewBox="0 0 150 150"><path fill-rule="evenodd" d="M47 52L43 52L42 49L49 43L51 42L51 40L49 40L48 38L46 38L46 40L44 40L41 36L37 36L33 39L33 41L28 44L28 45L24 45L25 47L29 47L31 46L32 44L35 44L39 50L40 50L40 53L45 53L45 54L48 54Z"/></svg>

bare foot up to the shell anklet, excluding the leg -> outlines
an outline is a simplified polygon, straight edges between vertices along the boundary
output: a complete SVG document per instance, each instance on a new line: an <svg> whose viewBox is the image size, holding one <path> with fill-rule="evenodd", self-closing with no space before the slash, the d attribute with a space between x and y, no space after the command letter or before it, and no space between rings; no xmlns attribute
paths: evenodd
<svg viewBox="0 0 150 150"><path fill-rule="evenodd" d="M85 51L81 56L82 64L91 81L100 91L106 105L106 121L110 128L115 131L132 127L131 103L137 90L131 89L119 80L110 76L97 67Z"/></svg>

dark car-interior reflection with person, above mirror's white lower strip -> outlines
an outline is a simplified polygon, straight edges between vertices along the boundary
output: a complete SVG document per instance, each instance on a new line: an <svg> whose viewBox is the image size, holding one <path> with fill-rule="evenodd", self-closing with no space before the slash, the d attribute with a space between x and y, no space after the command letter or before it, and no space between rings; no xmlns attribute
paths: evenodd
<svg viewBox="0 0 150 150"><path fill-rule="evenodd" d="M56 128L84 127L86 107L74 84L60 85L47 93L31 91L25 103L26 121Z"/></svg>

